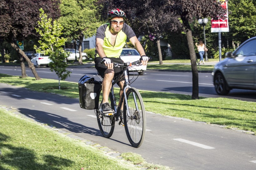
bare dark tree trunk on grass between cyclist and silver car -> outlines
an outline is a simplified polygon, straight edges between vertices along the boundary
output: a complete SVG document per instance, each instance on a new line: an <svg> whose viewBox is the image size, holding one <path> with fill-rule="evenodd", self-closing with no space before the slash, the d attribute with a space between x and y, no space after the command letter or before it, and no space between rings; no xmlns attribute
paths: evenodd
<svg viewBox="0 0 256 170"><path fill-rule="evenodd" d="M192 37L192 31L190 29L189 21L186 18L182 18L183 24L185 26L185 32L187 35L187 41L190 52L190 61L192 69L192 99L199 99L199 85L198 85L198 70L196 65L196 54L194 50L194 42Z"/></svg>

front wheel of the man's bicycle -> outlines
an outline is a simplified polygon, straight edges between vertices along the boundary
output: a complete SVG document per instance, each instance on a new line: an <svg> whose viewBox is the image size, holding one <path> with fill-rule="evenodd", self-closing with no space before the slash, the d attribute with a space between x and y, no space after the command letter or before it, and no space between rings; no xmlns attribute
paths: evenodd
<svg viewBox="0 0 256 170"><path fill-rule="evenodd" d="M124 107L124 124L130 144L138 148L144 141L146 131L145 107L140 92L129 88L126 92L128 106ZM128 115L128 112L129 114Z"/></svg>

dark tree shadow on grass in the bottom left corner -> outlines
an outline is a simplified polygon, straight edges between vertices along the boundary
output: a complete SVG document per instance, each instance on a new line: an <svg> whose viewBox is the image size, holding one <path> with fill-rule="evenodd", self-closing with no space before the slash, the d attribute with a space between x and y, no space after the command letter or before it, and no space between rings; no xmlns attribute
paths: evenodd
<svg viewBox="0 0 256 170"><path fill-rule="evenodd" d="M37 163L34 150L6 144L8 140L12 140L12 137L0 132L0 149L2 151L2 155L0 155L1 170L9 170L9 168L4 168L3 165L22 170L61 170L63 168L58 167L69 167L74 163L69 159L52 155L44 155L44 163Z"/></svg>

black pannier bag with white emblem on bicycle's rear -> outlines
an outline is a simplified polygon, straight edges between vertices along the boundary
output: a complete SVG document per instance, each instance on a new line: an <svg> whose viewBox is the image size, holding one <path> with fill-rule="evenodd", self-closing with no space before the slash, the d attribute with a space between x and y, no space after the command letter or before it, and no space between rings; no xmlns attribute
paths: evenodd
<svg viewBox="0 0 256 170"><path fill-rule="evenodd" d="M87 75L78 82L80 107L87 110L97 109L101 92L101 82Z"/></svg>

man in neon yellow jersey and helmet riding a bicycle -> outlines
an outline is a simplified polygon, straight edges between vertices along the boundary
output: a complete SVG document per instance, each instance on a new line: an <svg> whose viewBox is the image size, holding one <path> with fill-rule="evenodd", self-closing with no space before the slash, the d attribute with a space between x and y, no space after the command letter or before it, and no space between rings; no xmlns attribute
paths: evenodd
<svg viewBox="0 0 256 170"><path fill-rule="evenodd" d="M120 59L123 46L126 40L129 39L131 44L134 45L136 50L140 53L140 60L143 65L147 65L148 57L145 51L137 39L134 31L124 21L126 14L122 10L116 8L108 12L109 23L101 25L96 32L96 57L95 68L103 78L102 81L102 93L103 93L103 104L101 105L102 113L112 113L108 101L108 96L111 89L112 79L117 78L123 72L123 68L113 68L113 63L123 63ZM104 64L101 64L102 59L105 60ZM122 89L124 86L124 79L121 79L118 83ZM120 96L122 90L120 89Z"/></svg>

